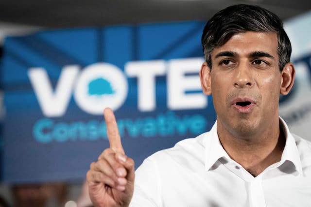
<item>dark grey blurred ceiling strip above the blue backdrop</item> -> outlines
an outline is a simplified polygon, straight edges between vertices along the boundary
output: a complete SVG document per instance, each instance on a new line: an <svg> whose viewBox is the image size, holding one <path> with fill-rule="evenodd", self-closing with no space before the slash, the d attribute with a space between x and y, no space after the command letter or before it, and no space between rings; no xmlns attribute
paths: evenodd
<svg viewBox="0 0 311 207"><path fill-rule="evenodd" d="M237 3L263 6L282 19L311 10L311 0L0 0L0 21L68 28L207 20Z"/></svg>

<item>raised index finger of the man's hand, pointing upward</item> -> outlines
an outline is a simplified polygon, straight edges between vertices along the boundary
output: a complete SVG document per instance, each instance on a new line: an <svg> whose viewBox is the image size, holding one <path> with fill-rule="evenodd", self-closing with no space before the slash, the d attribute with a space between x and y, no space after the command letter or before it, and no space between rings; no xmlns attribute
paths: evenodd
<svg viewBox="0 0 311 207"><path fill-rule="evenodd" d="M124 150L121 144L121 137L116 122L116 117L110 108L104 109L104 117L107 126L107 136L110 143L110 148L116 152L124 155Z"/></svg>

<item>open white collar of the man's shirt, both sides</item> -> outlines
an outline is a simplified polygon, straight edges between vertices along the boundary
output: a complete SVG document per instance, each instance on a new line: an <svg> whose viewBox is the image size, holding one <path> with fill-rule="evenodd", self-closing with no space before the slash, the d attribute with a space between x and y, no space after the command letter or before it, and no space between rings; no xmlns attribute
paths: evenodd
<svg viewBox="0 0 311 207"><path fill-rule="evenodd" d="M284 163L286 160L289 160L294 164L299 174L302 174L302 166L295 139L290 133L285 121L281 117L279 117L279 120L280 124L283 126L284 135L286 138L286 143L280 163ZM210 130L210 136L205 139L205 170L208 171L215 164L215 162L222 157L225 157L228 160L230 159L229 155L226 153L225 149L219 141L216 121Z"/></svg>

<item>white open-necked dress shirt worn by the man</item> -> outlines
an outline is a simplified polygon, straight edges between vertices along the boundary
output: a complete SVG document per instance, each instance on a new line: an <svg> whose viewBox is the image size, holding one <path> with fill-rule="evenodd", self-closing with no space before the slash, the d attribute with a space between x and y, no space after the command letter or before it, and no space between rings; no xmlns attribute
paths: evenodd
<svg viewBox="0 0 311 207"><path fill-rule="evenodd" d="M209 132L156 152L136 171L130 207L311 207L311 142L284 126L281 160L253 177Z"/></svg>

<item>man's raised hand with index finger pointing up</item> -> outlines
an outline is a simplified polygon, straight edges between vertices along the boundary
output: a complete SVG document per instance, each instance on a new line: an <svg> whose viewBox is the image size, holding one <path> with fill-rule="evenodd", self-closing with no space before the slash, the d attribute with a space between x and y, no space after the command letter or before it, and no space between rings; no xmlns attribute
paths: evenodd
<svg viewBox="0 0 311 207"><path fill-rule="evenodd" d="M90 199L95 207L127 207L134 191L134 160L124 154L111 109L105 108L104 118L110 148L91 163L86 174Z"/></svg>

